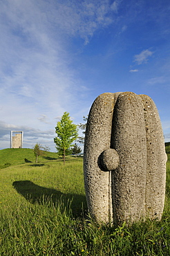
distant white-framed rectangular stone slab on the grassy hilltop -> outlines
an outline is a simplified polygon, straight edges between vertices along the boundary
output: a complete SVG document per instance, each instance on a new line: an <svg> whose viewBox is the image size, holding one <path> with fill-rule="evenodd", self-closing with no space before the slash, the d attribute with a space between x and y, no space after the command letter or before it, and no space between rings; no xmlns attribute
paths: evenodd
<svg viewBox="0 0 170 256"><path fill-rule="evenodd" d="M20 149L23 147L23 131L10 132L10 148Z"/></svg>

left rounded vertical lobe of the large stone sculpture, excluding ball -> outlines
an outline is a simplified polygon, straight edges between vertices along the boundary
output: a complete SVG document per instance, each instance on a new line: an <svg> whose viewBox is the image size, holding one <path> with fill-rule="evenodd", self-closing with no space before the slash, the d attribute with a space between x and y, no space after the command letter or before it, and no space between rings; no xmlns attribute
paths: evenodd
<svg viewBox="0 0 170 256"><path fill-rule="evenodd" d="M111 147L113 109L119 93L99 95L91 107L84 142L84 183L91 217L107 223L113 219L111 172L99 167L100 154Z"/></svg>

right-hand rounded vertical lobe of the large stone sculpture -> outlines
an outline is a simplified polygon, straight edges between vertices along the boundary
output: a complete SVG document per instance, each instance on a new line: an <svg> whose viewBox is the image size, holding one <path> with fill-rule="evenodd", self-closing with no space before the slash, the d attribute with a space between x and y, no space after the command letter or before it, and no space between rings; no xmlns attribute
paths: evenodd
<svg viewBox="0 0 170 256"><path fill-rule="evenodd" d="M146 216L161 219L164 209L167 154L158 110L147 95L140 95L144 105L147 138Z"/></svg>

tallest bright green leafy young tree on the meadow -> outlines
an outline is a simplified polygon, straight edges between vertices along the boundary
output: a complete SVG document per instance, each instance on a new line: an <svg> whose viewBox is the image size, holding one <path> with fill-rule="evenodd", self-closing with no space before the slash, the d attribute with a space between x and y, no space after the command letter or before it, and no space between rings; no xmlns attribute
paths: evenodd
<svg viewBox="0 0 170 256"><path fill-rule="evenodd" d="M54 138L54 142L57 150L63 149L65 164L66 149L69 149L69 147L72 146L71 144L73 141L78 137L77 125L74 125L73 121L70 120L68 112L64 112L61 121L57 122L55 133L57 134L57 137Z"/></svg>

